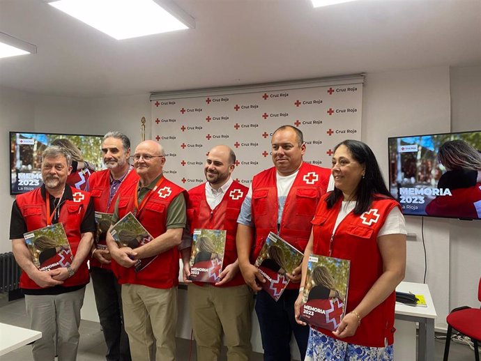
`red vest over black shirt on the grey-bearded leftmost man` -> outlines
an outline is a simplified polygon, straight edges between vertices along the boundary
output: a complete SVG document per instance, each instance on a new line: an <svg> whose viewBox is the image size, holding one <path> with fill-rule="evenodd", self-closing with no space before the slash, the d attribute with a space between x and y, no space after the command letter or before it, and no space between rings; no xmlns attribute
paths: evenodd
<svg viewBox="0 0 481 361"><path fill-rule="evenodd" d="M68 187L68 185L66 185L66 187ZM80 225L82 224L82 220L84 220L85 211L89 206L90 194L76 190L75 188L72 188L72 194L74 194L74 200L66 200L63 206L61 206L59 223L63 224L70 249L75 257L80 238L82 238ZM36 229L47 226L47 206L40 192L40 188L24 194L18 194L17 206L24 217L27 231L35 231ZM62 286L79 286L88 283L89 269L87 268L87 261L85 259L79 266L77 272L75 272L75 275L63 281ZM22 276L20 276L20 287L22 289L42 288L33 282L30 277L26 275L26 272L23 271Z"/></svg>

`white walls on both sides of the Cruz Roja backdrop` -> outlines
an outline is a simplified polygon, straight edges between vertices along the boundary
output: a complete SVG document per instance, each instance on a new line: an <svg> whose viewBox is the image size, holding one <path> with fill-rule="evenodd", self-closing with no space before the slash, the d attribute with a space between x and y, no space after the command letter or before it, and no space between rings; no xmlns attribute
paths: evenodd
<svg viewBox="0 0 481 361"><path fill-rule="evenodd" d="M372 146L383 174L388 170L387 137L481 129L481 67L427 68L405 72L368 74L364 87L362 140ZM0 88L0 123L4 130L103 134L120 130L132 144L140 140L140 118L145 116L150 137L148 94L113 98L77 99L31 95ZM452 118L451 118L452 116ZM0 139L0 160L8 160L8 137ZM8 167L0 169L7 179ZM8 252L10 206L13 197L2 182L0 252ZM427 247L427 283L438 319L445 326L448 309L478 305L475 286L481 275L480 222L408 217L415 238L408 243L406 280L422 282Z"/></svg>

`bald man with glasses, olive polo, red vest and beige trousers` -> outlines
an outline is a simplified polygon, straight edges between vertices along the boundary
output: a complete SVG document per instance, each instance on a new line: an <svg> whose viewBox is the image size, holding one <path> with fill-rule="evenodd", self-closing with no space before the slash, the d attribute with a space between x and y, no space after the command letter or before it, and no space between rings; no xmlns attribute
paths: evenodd
<svg viewBox="0 0 481 361"><path fill-rule="evenodd" d="M119 248L108 233L107 247L112 255L112 270L122 285L123 318L132 360L174 361L177 247L186 222L187 194L163 176L165 153L157 142L142 141L132 158L139 183L120 192L112 222L132 212L153 240L135 249ZM135 272L132 266L136 261L151 256L157 257Z"/></svg>

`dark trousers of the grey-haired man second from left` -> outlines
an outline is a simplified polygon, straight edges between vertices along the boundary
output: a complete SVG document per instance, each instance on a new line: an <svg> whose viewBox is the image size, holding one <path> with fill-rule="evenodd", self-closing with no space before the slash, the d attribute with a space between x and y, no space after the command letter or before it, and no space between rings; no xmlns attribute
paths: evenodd
<svg viewBox="0 0 481 361"><path fill-rule="evenodd" d="M114 273L104 268L92 267L93 292L100 325L107 344L107 361L130 361L128 336L123 327L121 286Z"/></svg>

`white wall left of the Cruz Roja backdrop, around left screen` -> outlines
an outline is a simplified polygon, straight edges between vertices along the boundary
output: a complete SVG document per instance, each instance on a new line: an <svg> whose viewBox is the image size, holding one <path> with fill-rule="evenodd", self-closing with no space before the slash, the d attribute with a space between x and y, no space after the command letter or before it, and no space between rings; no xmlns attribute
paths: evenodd
<svg viewBox="0 0 481 361"><path fill-rule="evenodd" d="M66 98L33 95L0 87L0 124L5 135L0 139L0 253L9 252L10 209L13 196L8 182L8 131L66 132L103 135L119 130L135 147L140 141L140 119L150 118L148 94L112 98ZM150 122L146 124L146 139L150 138Z"/></svg>

